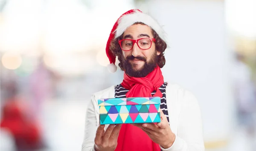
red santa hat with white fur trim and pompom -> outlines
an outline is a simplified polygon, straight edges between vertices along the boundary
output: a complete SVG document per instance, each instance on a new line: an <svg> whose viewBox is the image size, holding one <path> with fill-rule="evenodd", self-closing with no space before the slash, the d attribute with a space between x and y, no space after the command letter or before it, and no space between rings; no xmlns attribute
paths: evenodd
<svg viewBox="0 0 256 151"><path fill-rule="evenodd" d="M136 22L142 22L146 25L150 26L154 31L157 32L160 38L165 40L165 32L161 28L161 26L157 23L156 20L154 20L151 16L141 12L139 9L131 9L124 14L122 14L118 20L116 20L116 23L113 26L113 29L111 30L111 33L108 38L107 46L106 46L106 54L108 56L110 64L108 64L108 70L111 73L116 72L116 56L113 55L111 50L109 49L110 43L113 38L118 38L120 35L125 32L125 30L133 25Z"/></svg>

